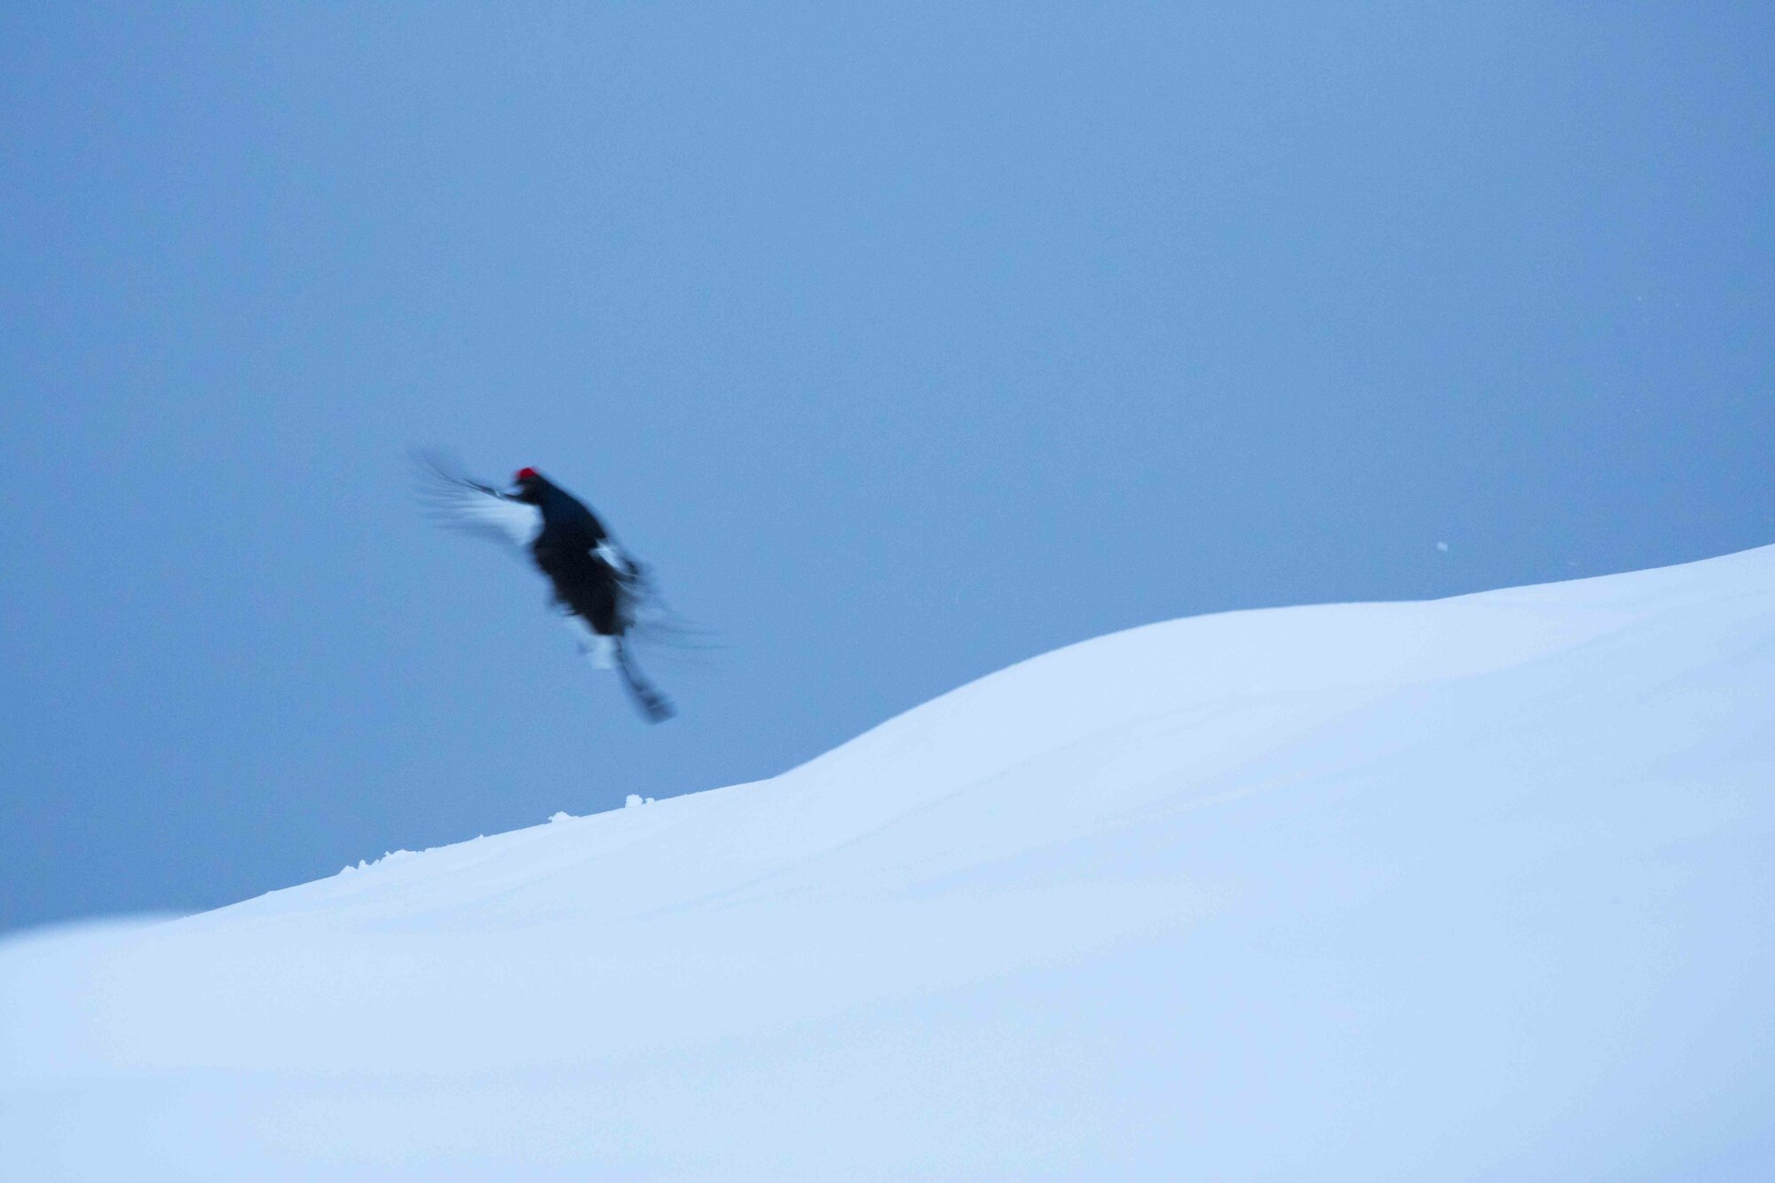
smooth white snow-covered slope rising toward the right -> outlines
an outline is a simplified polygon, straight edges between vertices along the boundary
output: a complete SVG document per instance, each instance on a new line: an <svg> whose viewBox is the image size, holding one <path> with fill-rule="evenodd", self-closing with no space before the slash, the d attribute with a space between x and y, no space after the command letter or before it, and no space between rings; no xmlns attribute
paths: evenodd
<svg viewBox="0 0 1775 1183"><path fill-rule="evenodd" d="M1775 547L16 938L0 1178L1775 1178Z"/></svg>

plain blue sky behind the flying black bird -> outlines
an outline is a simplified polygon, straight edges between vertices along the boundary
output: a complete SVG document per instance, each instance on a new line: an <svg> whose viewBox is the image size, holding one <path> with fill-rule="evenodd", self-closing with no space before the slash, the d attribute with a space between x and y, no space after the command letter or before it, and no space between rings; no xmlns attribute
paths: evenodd
<svg viewBox="0 0 1775 1183"><path fill-rule="evenodd" d="M9 5L0 927L1152 620L1775 542L1771 57L1754 4ZM682 718L422 520L426 444L655 565Z"/></svg>

